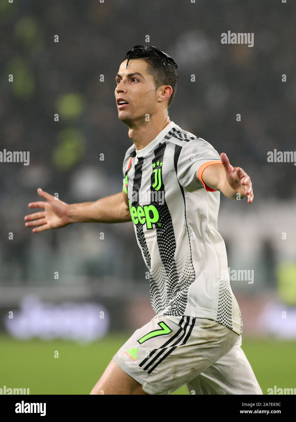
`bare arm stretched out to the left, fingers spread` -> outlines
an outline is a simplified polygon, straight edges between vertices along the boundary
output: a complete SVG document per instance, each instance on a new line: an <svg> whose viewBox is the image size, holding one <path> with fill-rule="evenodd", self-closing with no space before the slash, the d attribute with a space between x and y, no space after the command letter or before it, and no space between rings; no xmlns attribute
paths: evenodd
<svg viewBox="0 0 296 422"><path fill-rule="evenodd" d="M131 221L128 206L128 195L122 190L115 195L107 196L95 202L66 204L44 192L37 190L45 201L29 203L29 208L43 208L24 217L26 227L33 228L33 233L64 227L75 222L123 223Z"/></svg>

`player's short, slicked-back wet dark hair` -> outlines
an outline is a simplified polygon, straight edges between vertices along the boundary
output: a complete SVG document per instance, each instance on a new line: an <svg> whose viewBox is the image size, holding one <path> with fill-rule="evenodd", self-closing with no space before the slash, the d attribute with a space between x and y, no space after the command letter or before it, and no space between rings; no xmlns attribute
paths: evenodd
<svg viewBox="0 0 296 422"><path fill-rule="evenodd" d="M142 59L147 62L147 71L153 77L155 90L160 85L170 85L173 93L168 100L168 107L174 99L177 79L178 79L178 66L168 54L157 48L150 46L133 46L131 50L126 53L123 61L130 59ZM128 67L128 62L126 67Z"/></svg>

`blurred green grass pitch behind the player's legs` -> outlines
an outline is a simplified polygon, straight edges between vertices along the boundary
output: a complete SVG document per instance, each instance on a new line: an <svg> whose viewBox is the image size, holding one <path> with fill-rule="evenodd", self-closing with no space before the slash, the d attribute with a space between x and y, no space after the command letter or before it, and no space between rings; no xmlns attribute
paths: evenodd
<svg viewBox="0 0 296 422"><path fill-rule="evenodd" d="M130 333L131 334L131 333ZM109 334L91 344L0 338L0 388L30 388L30 394L89 394L129 333ZM274 385L296 387L295 341L244 338L242 349L267 394ZM54 352L59 357L54 358ZM185 387L174 394L188 394Z"/></svg>

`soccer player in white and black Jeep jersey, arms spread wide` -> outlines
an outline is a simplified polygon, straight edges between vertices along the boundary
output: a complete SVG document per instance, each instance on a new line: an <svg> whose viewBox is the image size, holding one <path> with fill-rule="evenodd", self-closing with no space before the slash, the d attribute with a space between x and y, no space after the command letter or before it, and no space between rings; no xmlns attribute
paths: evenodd
<svg viewBox="0 0 296 422"><path fill-rule="evenodd" d="M241 313L217 231L220 192L252 203L252 183L226 154L170 121L177 77L163 51L128 51L115 88L133 141L122 192L68 205L39 188L45 201L29 207L44 211L25 217L34 233L74 222L134 223L156 316L119 349L91 394L171 394L184 384L191 394L262 394L241 349Z"/></svg>

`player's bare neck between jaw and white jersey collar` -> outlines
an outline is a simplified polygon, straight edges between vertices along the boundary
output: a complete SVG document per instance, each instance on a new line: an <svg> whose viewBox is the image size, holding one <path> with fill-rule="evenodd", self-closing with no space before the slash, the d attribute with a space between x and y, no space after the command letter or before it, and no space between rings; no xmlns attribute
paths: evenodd
<svg viewBox="0 0 296 422"><path fill-rule="evenodd" d="M168 115L161 119L151 119L149 122L141 122L128 130L128 136L133 140L136 150L145 148L157 135L169 124Z"/></svg>

